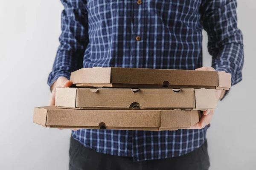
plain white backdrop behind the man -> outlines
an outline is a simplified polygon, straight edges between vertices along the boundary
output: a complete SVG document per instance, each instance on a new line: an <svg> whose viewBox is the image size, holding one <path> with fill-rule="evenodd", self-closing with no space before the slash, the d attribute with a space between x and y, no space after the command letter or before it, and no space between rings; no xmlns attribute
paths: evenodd
<svg viewBox="0 0 256 170"><path fill-rule="evenodd" d="M256 1L238 0L244 34L243 81L218 108L207 132L210 170L256 169L255 91ZM0 3L0 169L67 170L70 130L32 123L33 108L47 105L51 71L61 33L58 0ZM204 32L204 65L209 66Z"/></svg>

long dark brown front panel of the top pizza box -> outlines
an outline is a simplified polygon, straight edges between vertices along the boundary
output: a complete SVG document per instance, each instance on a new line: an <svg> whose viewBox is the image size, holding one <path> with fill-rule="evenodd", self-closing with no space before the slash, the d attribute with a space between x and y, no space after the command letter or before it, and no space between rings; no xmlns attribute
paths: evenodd
<svg viewBox="0 0 256 170"><path fill-rule="evenodd" d="M112 68L111 83L218 86L217 71Z"/></svg>

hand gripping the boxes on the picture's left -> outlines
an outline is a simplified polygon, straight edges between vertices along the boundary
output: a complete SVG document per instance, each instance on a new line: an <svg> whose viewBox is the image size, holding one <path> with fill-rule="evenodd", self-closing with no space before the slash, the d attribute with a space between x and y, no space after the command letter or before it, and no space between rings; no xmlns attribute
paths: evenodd
<svg viewBox="0 0 256 170"><path fill-rule="evenodd" d="M71 87L71 86L72 86L72 82L69 81L66 77L59 77L52 84L52 87L51 87L52 94L51 94L48 105L49 106L55 105L55 91L56 91L56 88L67 88L67 87ZM63 130L63 129L67 129L67 128L58 128L58 129ZM71 129L71 130L79 130L79 129Z"/></svg>

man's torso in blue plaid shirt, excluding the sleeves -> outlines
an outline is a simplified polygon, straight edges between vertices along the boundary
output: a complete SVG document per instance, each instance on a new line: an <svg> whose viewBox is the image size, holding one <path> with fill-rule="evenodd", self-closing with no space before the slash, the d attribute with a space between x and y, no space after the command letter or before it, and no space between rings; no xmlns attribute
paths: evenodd
<svg viewBox="0 0 256 170"><path fill-rule="evenodd" d="M201 0L72 1L88 12L83 67L190 69L202 66ZM139 38L138 38L139 37ZM97 152L134 161L181 156L204 143L202 130L82 129L72 136Z"/></svg>

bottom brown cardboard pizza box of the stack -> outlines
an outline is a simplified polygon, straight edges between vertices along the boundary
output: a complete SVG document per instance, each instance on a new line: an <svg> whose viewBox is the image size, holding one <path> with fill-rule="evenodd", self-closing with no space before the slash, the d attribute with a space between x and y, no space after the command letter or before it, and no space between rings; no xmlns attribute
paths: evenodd
<svg viewBox="0 0 256 170"><path fill-rule="evenodd" d="M45 106L34 109L33 122L44 127L177 130L199 122L195 110L78 110Z"/></svg>

